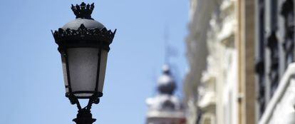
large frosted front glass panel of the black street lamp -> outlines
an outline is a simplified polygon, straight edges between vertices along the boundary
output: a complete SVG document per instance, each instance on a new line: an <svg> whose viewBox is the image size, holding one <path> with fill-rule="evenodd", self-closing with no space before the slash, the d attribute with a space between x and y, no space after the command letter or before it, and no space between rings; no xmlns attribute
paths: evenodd
<svg viewBox="0 0 295 124"><path fill-rule="evenodd" d="M72 92L95 91L98 69L98 48L68 48L68 67ZM78 93L90 97L93 93Z"/></svg>

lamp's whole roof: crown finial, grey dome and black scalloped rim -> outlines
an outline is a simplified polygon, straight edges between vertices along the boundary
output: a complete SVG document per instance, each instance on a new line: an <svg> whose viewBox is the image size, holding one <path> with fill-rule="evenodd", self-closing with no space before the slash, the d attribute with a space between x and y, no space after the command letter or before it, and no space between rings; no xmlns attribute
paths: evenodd
<svg viewBox="0 0 295 124"><path fill-rule="evenodd" d="M58 45L73 43L74 41L83 41L84 43L102 42L108 46L113 41L115 31L105 28L103 24L92 19L91 14L94 4L71 6L76 19L59 28L58 31L52 31L53 37Z"/></svg>

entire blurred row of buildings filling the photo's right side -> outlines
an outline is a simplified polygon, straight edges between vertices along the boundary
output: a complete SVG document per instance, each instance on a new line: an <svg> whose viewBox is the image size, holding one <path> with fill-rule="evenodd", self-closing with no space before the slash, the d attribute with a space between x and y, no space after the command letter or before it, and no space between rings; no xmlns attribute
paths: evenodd
<svg viewBox="0 0 295 124"><path fill-rule="evenodd" d="M191 0L187 123L295 123L294 0Z"/></svg>

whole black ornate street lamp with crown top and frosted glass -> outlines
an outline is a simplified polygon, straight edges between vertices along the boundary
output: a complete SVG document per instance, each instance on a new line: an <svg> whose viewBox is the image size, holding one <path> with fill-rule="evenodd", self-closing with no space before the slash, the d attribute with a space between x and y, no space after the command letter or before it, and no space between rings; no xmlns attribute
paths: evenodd
<svg viewBox="0 0 295 124"><path fill-rule="evenodd" d="M103 96L105 67L115 31L110 31L92 19L94 4L72 4L76 19L68 22L58 31L52 31L58 44L63 66L66 97L78 107L77 124L92 124L90 108L98 104ZM79 99L88 99L82 108Z"/></svg>

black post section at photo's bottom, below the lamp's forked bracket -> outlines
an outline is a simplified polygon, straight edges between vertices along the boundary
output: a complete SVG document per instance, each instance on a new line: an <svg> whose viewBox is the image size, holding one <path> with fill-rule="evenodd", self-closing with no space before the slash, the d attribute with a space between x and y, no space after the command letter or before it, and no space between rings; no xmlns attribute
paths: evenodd
<svg viewBox="0 0 295 124"><path fill-rule="evenodd" d="M83 108L78 110L77 118L73 119L76 124L92 124L96 119L92 118L90 110Z"/></svg>

